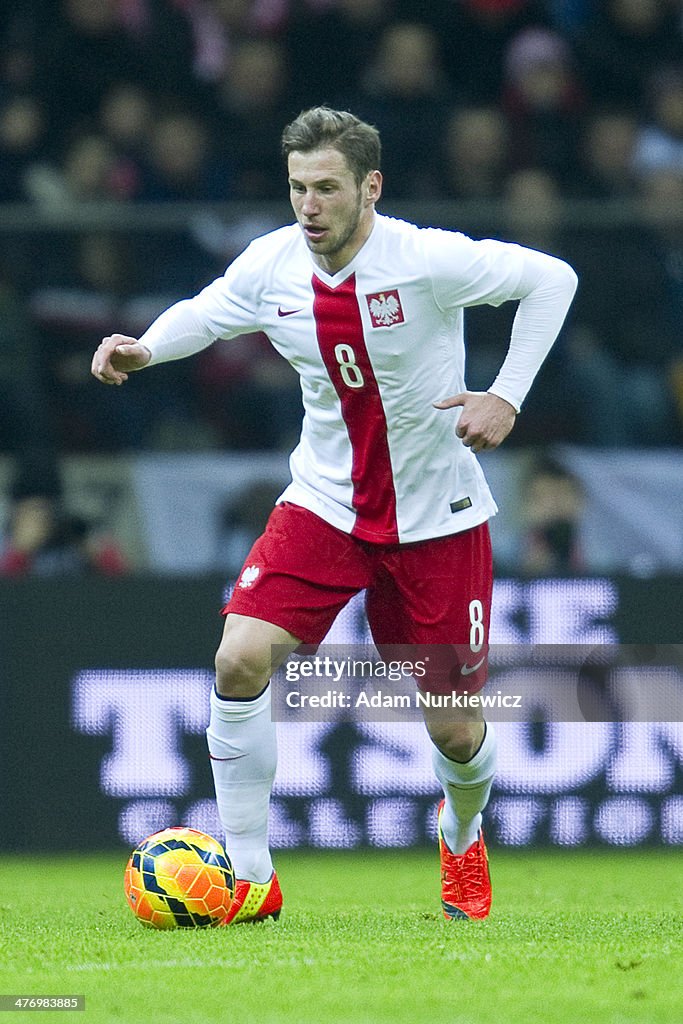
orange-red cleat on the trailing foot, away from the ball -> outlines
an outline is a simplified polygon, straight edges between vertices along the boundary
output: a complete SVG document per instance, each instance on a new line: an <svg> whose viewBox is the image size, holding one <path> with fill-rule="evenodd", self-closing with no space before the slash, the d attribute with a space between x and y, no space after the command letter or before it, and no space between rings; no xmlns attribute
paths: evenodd
<svg viewBox="0 0 683 1024"><path fill-rule="evenodd" d="M483 833L463 854L451 853L441 833L443 801L438 805L438 851L441 858L441 906L446 921L480 920L490 910L490 876Z"/></svg>

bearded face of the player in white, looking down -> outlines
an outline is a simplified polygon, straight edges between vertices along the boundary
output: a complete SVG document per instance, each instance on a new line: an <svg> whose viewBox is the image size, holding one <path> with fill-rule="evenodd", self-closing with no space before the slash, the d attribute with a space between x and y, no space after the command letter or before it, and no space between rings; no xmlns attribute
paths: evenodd
<svg viewBox="0 0 683 1024"><path fill-rule="evenodd" d="M290 199L315 262L336 273L353 259L373 228L382 175L371 171L358 185L338 150L291 153Z"/></svg>

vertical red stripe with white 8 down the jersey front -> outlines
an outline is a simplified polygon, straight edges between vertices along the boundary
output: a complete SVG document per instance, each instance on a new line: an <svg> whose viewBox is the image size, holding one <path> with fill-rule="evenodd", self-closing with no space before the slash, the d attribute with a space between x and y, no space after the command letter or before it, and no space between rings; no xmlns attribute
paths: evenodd
<svg viewBox="0 0 683 1024"><path fill-rule="evenodd" d="M396 493L387 424L355 294L355 274L328 288L314 274L313 316L323 361L341 401L351 442L351 535L380 544L398 542Z"/></svg>

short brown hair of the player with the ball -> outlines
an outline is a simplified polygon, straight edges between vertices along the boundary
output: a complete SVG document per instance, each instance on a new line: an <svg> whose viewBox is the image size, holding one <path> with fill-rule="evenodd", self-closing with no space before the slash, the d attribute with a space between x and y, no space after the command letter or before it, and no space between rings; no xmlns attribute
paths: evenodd
<svg viewBox="0 0 683 1024"><path fill-rule="evenodd" d="M374 125L366 124L348 111L333 111L330 106L311 106L283 132L283 155L311 153L330 147L338 150L360 182L380 167L382 145Z"/></svg>

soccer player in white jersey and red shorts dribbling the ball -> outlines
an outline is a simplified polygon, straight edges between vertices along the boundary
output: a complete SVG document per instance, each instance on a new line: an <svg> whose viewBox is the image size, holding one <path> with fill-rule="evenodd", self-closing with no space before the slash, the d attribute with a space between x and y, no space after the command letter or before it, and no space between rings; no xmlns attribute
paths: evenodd
<svg viewBox="0 0 683 1024"><path fill-rule="evenodd" d="M476 459L506 438L571 302L577 276L544 253L382 216L377 130L313 108L286 127L296 223L256 239L195 298L139 340L114 334L92 373L191 355L264 331L301 378L304 420L292 482L223 609L207 735L226 848L240 880L226 923L276 918L267 841L275 772L269 678L317 644L366 590L373 638L459 645L483 685L496 504ZM509 347L486 392L465 386L463 310L517 300ZM439 648L440 649L440 648ZM275 659L276 662L278 659ZM453 676L451 676L453 678ZM429 679L421 685L429 688ZM479 714L427 709L443 787L438 833L449 920L485 918L490 881L481 812L496 739Z"/></svg>

